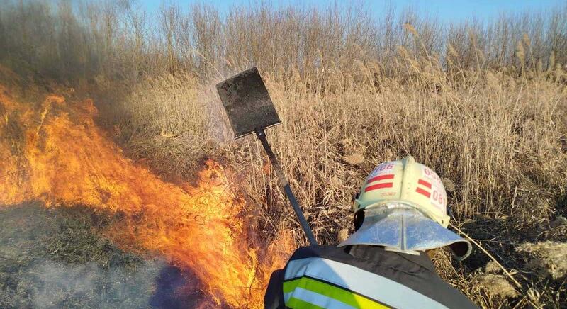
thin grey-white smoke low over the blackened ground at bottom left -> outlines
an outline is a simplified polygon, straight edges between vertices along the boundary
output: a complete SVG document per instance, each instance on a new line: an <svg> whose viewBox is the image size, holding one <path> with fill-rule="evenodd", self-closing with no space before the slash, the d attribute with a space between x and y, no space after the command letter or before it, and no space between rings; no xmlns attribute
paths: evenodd
<svg viewBox="0 0 567 309"><path fill-rule="evenodd" d="M155 298L162 260L142 262L136 269L113 266L103 269L96 262L65 265L44 260L21 269L21 285L28 286L35 308L101 307L140 308Z"/></svg>

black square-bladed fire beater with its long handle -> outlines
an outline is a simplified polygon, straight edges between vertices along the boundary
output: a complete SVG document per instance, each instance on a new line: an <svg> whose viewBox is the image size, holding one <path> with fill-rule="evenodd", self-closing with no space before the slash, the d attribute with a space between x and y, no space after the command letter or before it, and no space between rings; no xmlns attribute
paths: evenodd
<svg viewBox="0 0 567 309"><path fill-rule="evenodd" d="M274 152L271 151L271 147L266 139L264 129L279 125L281 121L276 108L274 108L274 103L270 99L268 90L264 82L262 82L262 77L258 73L258 69L253 67L230 77L224 82L218 83L217 91L220 101L223 101L223 106L225 106L230 126L235 133L235 140L256 133L268 154L271 165L278 175L283 191L296 212L305 236L309 240L310 245L317 245L317 240L315 240L315 236L301 212L296 196L293 195L289 182L281 171L278 159L276 159Z"/></svg>

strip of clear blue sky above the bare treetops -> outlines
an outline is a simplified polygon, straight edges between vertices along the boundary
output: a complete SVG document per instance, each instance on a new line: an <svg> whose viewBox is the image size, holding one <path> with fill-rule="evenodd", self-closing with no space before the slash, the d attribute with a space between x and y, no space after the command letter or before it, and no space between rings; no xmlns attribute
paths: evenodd
<svg viewBox="0 0 567 309"><path fill-rule="evenodd" d="M140 0L142 5L148 11L155 11L161 0ZM182 7L189 6L191 2L200 0L167 0L180 4ZM201 1L203 2L203 1ZM234 4L247 5L256 2L256 0L218 0L218 1L204 1L207 4L213 4L218 7L221 12L230 9ZM275 6L287 6L289 4L307 5L307 6L320 6L325 8L334 1L322 0L274 0L265 1L274 4ZM341 1L337 1L340 3ZM359 1L354 1L355 3ZM374 15L380 16L389 2L393 3L397 9L403 9L406 6L411 6L415 11L421 14L429 14L439 18L444 22L458 22L471 16L476 16L482 20L487 20L498 16L501 12L522 12L538 11L550 9L554 6L561 6L566 2L563 0L366 0L363 1L368 4L369 8L373 11Z"/></svg>

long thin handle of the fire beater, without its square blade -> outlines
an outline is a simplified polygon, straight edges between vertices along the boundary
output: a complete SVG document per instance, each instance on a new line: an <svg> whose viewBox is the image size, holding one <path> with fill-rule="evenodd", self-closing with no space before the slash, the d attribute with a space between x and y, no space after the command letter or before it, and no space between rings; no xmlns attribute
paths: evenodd
<svg viewBox="0 0 567 309"><path fill-rule="evenodd" d="M307 223L307 220L305 220L305 216L303 215L303 212L299 207L296 196L293 195L291 187L289 186L289 182L281 171L281 166L279 165L278 159L276 159L274 152L271 151L271 147L268 143L268 140L266 139L266 132L264 132L264 128L256 128L254 131L256 132L256 136L259 138L260 142L262 142L262 146L264 146L264 150L266 150L266 153L270 158L271 165L274 167L274 170L278 175L279 182L283 187L283 192L286 193L289 203L291 203L291 207L293 207L293 210L296 212L299 224L301 225L301 228L303 228L303 232L305 232L305 236L307 237L309 244L312 246L318 245L317 240L315 239L315 235L313 235L313 231L311 230L311 227L309 227L309 223Z"/></svg>

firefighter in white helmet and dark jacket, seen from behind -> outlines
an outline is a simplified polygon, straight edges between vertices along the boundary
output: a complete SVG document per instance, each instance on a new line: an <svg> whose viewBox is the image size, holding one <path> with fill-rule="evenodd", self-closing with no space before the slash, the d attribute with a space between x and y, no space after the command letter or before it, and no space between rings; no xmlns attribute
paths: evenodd
<svg viewBox="0 0 567 309"><path fill-rule="evenodd" d="M338 246L301 247L274 271L266 308L476 308L445 283L426 251L471 244L447 230L439 176L412 157L378 165L354 200L356 232Z"/></svg>

